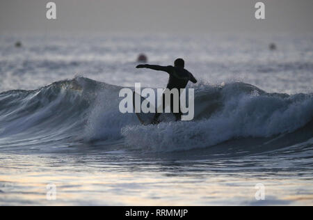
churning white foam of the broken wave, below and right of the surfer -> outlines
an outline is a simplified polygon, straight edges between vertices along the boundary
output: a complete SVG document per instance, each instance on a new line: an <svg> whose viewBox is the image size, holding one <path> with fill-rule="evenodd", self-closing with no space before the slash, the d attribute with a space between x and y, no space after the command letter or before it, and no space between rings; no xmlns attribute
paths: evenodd
<svg viewBox="0 0 313 220"><path fill-rule="evenodd" d="M205 148L236 137L293 132L313 118L312 95L259 95L255 91L246 93L245 86L229 84L223 88L223 107L210 118L123 127L125 143L152 151Z"/></svg>

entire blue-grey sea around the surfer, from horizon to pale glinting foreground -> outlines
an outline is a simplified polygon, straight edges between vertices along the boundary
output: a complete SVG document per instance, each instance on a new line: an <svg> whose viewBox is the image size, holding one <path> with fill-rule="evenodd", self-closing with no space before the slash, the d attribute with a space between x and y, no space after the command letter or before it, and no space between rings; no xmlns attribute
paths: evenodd
<svg viewBox="0 0 313 220"><path fill-rule="evenodd" d="M166 85L140 53L185 59L193 121L120 113ZM312 85L312 35L0 36L0 205L313 205Z"/></svg>

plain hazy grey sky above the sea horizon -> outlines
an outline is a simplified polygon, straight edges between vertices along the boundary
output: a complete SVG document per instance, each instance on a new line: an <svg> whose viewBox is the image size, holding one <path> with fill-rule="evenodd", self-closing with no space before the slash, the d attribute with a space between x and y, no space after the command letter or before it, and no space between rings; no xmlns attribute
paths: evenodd
<svg viewBox="0 0 313 220"><path fill-rule="evenodd" d="M47 2L0 0L0 33L313 32L313 0L264 0L265 20L254 0L54 0L56 20Z"/></svg>

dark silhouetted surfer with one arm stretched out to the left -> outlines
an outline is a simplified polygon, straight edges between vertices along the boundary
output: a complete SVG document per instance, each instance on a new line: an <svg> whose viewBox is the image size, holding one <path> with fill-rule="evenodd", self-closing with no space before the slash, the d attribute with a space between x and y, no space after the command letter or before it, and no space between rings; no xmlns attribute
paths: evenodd
<svg viewBox="0 0 313 220"><path fill-rule="evenodd" d="M180 98L180 89L181 88L186 88L188 81L192 81L194 84L197 83L197 79L193 77L193 74L191 72L188 72L184 68L185 62L182 58L177 58L174 62L174 66L168 65L168 66L162 66L162 65L149 65L149 64L141 64L137 65L136 68L148 68L152 70L159 70L159 71L164 71L167 72L170 77L168 79L168 85L166 88L171 90L172 88L177 88L178 93L179 93L179 98ZM165 94L163 93L162 95L162 102L163 102L163 111L166 108L165 104ZM170 99L170 112L174 114L176 120L181 120L182 119L182 111L180 107L180 99L178 100L178 113L174 113L174 100L171 98ZM161 113L156 112L154 115L154 119L152 121L153 124L159 123L158 118L161 116Z"/></svg>

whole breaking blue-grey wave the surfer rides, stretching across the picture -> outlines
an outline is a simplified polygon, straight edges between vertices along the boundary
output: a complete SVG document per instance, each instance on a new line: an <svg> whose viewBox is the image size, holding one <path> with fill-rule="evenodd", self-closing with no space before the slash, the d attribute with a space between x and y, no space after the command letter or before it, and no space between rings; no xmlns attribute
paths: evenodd
<svg viewBox="0 0 313 220"><path fill-rule="evenodd" d="M127 148L175 151L294 132L313 118L313 95L266 93L244 83L198 84L193 121L143 126L118 110L120 86L83 77L35 91L0 93L0 138L122 140Z"/></svg>

